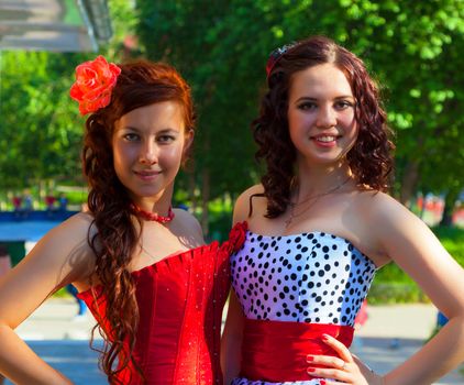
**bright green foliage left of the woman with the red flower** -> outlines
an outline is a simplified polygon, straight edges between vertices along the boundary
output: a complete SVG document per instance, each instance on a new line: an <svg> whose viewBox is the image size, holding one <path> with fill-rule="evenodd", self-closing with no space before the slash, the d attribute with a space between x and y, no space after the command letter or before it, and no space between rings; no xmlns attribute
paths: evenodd
<svg viewBox="0 0 464 385"><path fill-rule="evenodd" d="M133 33L133 7L112 0L114 36L98 54L119 62ZM38 180L84 184L80 148L85 119L69 98L74 68L97 53L0 52L0 189Z"/></svg>

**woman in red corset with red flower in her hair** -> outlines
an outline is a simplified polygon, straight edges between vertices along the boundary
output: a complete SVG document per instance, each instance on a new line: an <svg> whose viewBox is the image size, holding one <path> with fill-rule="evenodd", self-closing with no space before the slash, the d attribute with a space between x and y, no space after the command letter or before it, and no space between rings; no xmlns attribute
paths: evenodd
<svg viewBox="0 0 464 385"><path fill-rule="evenodd" d="M195 132L189 86L170 66L77 67L70 96L85 125L88 211L47 233L0 283L0 373L16 384L69 384L14 333L73 284L104 336L111 384L221 384L219 340L233 241L205 244L172 207ZM235 239L243 239L234 233Z"/></svg>

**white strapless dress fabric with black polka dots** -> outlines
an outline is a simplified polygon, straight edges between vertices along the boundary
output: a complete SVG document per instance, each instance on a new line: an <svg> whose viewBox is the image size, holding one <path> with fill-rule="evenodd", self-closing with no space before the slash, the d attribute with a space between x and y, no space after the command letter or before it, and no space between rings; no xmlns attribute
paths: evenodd
<svg viewBox="0 0 464 385"><path fill-rule="evenodd" d="M354 326L376 266L353 244L324 232L267 237L246 232L231 256L232 286L244 315L254 320ZM235 378L233 385L269 383Z"/></svg>

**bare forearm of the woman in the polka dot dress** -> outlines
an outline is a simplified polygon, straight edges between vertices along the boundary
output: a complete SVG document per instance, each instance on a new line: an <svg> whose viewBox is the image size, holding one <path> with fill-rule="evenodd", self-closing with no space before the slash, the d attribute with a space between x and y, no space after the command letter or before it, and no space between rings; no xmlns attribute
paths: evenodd
<svg viewBox="0 0 464 385"><path fill-rule="evenodd" d="M432 384L464 361L464 316L450 318L421 350L385 376L386 385Z"/></svg>

